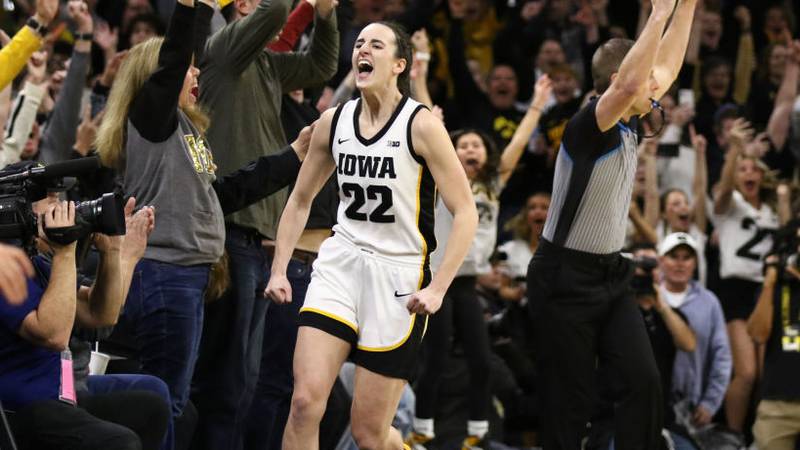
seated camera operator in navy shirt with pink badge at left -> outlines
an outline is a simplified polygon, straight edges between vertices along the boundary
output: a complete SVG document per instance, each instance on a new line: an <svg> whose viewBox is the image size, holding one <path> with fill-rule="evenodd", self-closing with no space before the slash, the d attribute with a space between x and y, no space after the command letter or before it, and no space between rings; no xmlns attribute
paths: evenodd
<svg viewBox="0 0 800 450"><path fill-rule="evenodd" d="M131 199L129 216L134 205ZM116 323L138 260L131 244L136 239L126 245L122 236L95 234L97 281L91 288L76 289L75 242L59 244L44 232L72 227L75 205L58 202L51 193L33 203L33 211L41 217L37 246L52 257L33 258L36 276L28 280L22 305L0 301L0 399L15 412L10 422L20 448L157 448L169 417L166 402L144 392L78 398L67 350L73 324L92 328ZM153 213L145 208L137 214L152 219ZM143 447L145 441L155 444Z"/></svg>

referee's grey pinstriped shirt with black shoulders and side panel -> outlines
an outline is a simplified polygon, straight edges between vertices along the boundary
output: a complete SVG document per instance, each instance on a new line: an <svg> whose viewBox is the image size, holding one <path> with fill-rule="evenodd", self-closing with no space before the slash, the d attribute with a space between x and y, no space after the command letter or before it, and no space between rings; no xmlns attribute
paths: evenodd
<svg viewBox="0 0 800 450"><path fill-rule="evenodd" d="M593 99L564 130L543 237L555 245L595 254L625 244L637 164L636 118L603 132Z"/></svg>

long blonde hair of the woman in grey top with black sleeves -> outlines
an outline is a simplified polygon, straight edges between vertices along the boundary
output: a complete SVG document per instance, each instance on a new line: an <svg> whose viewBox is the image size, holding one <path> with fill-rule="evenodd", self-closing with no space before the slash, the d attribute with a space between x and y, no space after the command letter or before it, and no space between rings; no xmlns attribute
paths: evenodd
<svg viewBox="0 0 800 450"><path fill-rule="evenodd" d="M125 139L131 103L158 68L158 55L163 42L164 38L151 38L133 46L117 72L94 142L104 166L121 170L125 165ZM201 133L205 132L208 116L199 107L182 108L182 111Z"/></svg>

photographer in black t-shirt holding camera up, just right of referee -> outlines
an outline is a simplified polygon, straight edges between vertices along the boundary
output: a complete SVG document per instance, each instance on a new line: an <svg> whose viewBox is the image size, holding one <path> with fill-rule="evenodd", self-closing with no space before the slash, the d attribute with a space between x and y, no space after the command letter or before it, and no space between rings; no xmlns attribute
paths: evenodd
<svg viewBox="0 0 800 450"><path fill-rule="evenodd" d="M666 242L666 241L665 241ZM662 253L666 247L662 248ZM664 428L669 431L673 448L692 449L694 446L683 436L676 434L675 414L672 411L672 369L678 350L692 352L696 347L694 332L689 328L686 317L667 303L656 283L658 259L655 248L650 244L639 244L633 252L636 272L631 281L639 312L644 319L650 338L664 398ZM625 389L624 378L610 368L600 372L603 387L600 418L595 419L592 433L596 439L607 430L613 416L612 398L619 398L619 391ZM617 395L614 395L617 394ZM609 396L610 395L610 396ZM598 431L599 430L599 431Z"/></svg>

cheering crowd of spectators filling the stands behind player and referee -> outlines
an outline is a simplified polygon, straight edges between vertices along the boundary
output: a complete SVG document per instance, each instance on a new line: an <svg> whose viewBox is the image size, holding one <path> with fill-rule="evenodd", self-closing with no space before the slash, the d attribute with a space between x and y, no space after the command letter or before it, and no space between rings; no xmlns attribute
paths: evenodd
<svg viewBox="0 0 800 450"><path fill-rule="evenodd" d="M798 251L783 230L797 228L800 213L800 2L696 1L680 77L641 121L626 242L639 267L632 287L673 448L795 448L800 272L796 257L780 255ZM131 198L127 234L96 235L88 257L44 235L32 262L0 246L0 401L21 448L280 448L302 302L263 298L273 239L310 126L357 95L351 50L377 21L412 34L412 96L467 155L490 225L475 243L483 260L457 278L464 295L476 294L480 319L465 319L457 296L445 300L396 425L420 431L416 393L416 412L436 418L428 448L455 448L470 396L485 389L495 448L537 445L547 387L535 381L528 262L565 126L593 95L592 55L610 38L635 39L648 0L2 8L0 168L99 156L102 169L37 202L45 227L74 223L69 200ZM293 255L296 295L336 202L332 179ZM87 378L98 342L94 353L116 357L107 374ZM340 378L321 448L354 446L345 432L352 380ZM618 381L598 374L590 447L613 445Z"/></svg>

